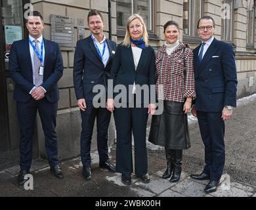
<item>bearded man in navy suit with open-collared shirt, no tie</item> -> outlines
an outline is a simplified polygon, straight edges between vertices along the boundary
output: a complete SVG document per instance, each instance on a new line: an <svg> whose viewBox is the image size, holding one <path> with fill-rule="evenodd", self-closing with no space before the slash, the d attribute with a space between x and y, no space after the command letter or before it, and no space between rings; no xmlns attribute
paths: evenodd
<svg viewBox="0 0 256 210"><path fill-rule="evenodd" d="M87 16L91 35L77 41L74 56L74 87L77 104L81 111L81 162L82 175L86 180L91 179L91 138L95 118L97 123L97 145L100 167L116 171L116 167L108 160L108 125L111 113L105 107L95 108L93 93L95 85L104 85L110 77L112 58L116 51L116 43L106 39L103 33L104 20L100 12L92 10ZM104 100L106 105L106 101Z"/></svg>

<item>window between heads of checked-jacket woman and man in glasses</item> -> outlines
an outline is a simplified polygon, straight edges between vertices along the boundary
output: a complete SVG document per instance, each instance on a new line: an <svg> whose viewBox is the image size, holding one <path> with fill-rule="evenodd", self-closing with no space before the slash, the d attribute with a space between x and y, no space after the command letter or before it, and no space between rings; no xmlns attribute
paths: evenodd
<svg viewBox="0 0 256 210"><path fill-rule="evenodd" d="M203 14L202 0L183 1L183 33L188 36L198 36L198 20Z"/></svg>

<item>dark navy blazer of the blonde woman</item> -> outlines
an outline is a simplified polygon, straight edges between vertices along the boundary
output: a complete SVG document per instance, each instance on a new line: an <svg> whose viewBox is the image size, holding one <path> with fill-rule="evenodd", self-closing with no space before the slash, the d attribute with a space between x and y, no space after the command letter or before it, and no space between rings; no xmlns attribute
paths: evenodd
<svg viewBox="0 0 256 210"><path fill-rule="evenodd" d="M149 94L150 94L150 85L155 85L155 53L152 47L146 47L142 49L140 55L139 64L137 70L135 71L135 64L133 60L133 52L131 45L125 47L122 44L119 44L116 49L116 54L114 56L114 62L111 69L112 79L114 80L115 85L124 85L127 90L127 98L122 98L120 102L131 102L131 95L129 95L129 87L135 85L149 85ZM129 86L130 85L130 86ZM114 96L119 93L114 93ZM111 97L110 97L111 98ZM150 102L155 102L154 98L148 98ZM148 100L146 100L148 101ZM144 92L141 94L141 102L144 102Z"/></svg>

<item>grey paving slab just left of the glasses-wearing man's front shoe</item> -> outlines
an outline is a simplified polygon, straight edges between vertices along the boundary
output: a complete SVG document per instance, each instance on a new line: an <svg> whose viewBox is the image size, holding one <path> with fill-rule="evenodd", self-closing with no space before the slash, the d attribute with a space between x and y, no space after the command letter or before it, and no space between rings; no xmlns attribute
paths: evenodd
<svg viewBox="0 0 256 210"><path fill-rule="evenodd" d="M178 192L179 194L183 194L189 197L204 197L204 187L204 184L194 182L193 180L190 179L184 179L182 180L182 182L179 182L178 184L170 188L170 190L173 190L175 192Z"/></svg>

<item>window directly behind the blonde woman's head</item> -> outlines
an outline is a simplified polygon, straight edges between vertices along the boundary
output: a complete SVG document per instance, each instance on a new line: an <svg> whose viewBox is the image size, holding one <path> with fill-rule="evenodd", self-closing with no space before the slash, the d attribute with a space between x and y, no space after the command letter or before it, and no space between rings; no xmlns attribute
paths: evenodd
<svg viewBox="0 0 256 210"><path fill-rule="evenodd" d="M142 16L148 31L152 31L152 0L116 0L117 27L126 27L126 21L131 14Z"/></svg>

